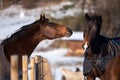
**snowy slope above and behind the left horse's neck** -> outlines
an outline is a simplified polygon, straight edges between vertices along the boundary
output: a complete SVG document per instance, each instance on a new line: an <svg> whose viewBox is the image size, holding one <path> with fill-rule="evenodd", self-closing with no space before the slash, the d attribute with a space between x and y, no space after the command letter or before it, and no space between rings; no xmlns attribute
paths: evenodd
<svg viewBox="0 0 120 80"><path fill-rule="evenodd" d="M72 8L61 11L64 5L72 5L72 2L61 2L58 5L38 7L35 9L23 9L21 5L11 5L9 8L0 11L0 39L9 37L23 25L34 22L40 18L40 14L48 14L53 18L64 18L65 16L75 16L80 13L80 9ZM11 29L8 29L11 28Z"/></svg>

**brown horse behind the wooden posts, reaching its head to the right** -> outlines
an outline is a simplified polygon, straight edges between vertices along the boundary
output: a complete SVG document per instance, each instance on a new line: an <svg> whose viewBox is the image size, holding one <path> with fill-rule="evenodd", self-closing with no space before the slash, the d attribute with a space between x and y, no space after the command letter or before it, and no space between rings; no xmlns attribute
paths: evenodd
<svg viewBox="0 0 120 80"><path fill-rule="evenodd" d="M10 56L17 54L19 56L19 67L21 68L22 55L30 56L39 42L45 39L55 39L69 37L72 30L65 25L50 22L45 15L32 24L23 26L11 37L2 41L4 55L10 62Z"/></svg>

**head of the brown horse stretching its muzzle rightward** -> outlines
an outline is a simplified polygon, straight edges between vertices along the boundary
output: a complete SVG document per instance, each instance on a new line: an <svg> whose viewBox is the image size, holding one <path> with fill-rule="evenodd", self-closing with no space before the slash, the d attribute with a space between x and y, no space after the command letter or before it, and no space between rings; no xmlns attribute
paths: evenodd
<svg viewBox="0 0 120 80"><path fill-rule="evenodd" d="M45 15L40 16L39 20L40 32L47 39L54 39L60 37L69 37L72 35L72 30L65 25L50 22L45 18Z"/></svg>

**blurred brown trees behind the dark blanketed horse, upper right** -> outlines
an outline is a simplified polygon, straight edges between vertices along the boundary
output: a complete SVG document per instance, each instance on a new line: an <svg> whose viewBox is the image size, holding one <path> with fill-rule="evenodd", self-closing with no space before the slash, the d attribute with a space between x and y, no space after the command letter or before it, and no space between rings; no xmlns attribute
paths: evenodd
<svg viewBox="0 0 120 80"><path fill-rule="evenodd" d="M120 0L84 0L85 4L94 9L95 14L102 15L102 34L110 37L120 36ZM89 13L93 12L89 10Z"/></svg>

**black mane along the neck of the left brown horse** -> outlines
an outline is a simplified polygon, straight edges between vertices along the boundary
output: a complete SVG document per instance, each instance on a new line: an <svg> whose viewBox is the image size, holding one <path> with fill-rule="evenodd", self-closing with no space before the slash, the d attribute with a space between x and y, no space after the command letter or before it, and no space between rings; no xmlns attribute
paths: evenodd
<svg viewBox="0 0 120 80"><path fill-rule="evenodd" d="M36 24L39 24L39 20L33 22L32 24L28 24L28 25L25 25L23 27L21 27L20 29L18 29L15 33L13 33L10 37L4 39L2 41L2 44L5 44L6 42L8 41L12 41L12 40L16 40L18 38L20 38L21 36L24 35L24 33L29 30L29 29L32 29L31 27L35 27Z"/></svg>

